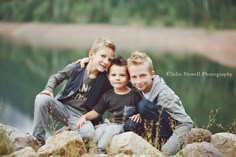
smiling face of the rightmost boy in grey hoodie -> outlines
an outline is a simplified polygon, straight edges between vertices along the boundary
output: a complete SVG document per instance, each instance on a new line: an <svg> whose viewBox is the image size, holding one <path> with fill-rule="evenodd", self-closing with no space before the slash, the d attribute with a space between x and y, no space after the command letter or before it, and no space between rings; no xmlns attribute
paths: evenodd
<svg viewBox="0 0 236 157"><path fill-rule="evenodd" d="M130 81L138 90L147 93L152 88L154 71L150 71L147 64L129 66Z"/></svg>

